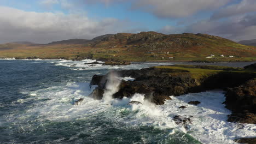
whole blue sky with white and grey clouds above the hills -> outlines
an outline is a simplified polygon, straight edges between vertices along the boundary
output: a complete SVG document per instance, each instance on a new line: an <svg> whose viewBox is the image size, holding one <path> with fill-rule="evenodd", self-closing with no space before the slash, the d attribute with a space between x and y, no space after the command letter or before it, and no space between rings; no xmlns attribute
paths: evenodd
<svg viewBox="0 0 256 144"><path fill-rule="evenodd" d="M0 0L0 43L142 31L256 39L256 0Z"/></svg>

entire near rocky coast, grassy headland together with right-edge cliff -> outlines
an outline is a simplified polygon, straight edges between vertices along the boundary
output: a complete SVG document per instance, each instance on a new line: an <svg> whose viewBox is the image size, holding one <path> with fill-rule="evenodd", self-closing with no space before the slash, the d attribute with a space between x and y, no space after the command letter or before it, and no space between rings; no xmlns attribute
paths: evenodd
<svg viewBox="0 0 256 144"><path fill-rule="evenodd" d="M135 93L144 94L144 99L156 105L165 104L170 95L179 96L212 89L223 89L226 94L224 104L232 111L228 121L239 123L256 122L256 64L245 68L170 65L141 70L110 71L106 75L94 75L90 85L98 87L91 93L94 99L102 99L110 75L132 77L134 81L120 80L118 91L112 97L122 99ZM200 101L190 101L200 104Z"/></svg>

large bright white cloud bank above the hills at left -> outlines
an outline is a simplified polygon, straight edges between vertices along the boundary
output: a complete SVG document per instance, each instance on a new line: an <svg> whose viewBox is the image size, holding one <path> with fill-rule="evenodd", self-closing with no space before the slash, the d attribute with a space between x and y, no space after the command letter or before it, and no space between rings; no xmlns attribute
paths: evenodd
<svg viewBox="0 0 256 144"><path fill-rule="evenodd" d="M36 13L1 7L0 43L10 41L51 41L83 38L91 39L107 33L124 31L131 23L114 18L90 20L84 15L63 13Z"/></svg>

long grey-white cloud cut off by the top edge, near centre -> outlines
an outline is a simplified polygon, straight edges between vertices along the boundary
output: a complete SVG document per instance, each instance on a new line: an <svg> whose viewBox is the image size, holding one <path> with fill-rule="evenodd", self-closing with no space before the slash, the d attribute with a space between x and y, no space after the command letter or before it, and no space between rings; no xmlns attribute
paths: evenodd
<svg viewBox="0 0 256 144"><path fill-rule="evenodd" d="M130 2L131 9L151 13L157 17L188 17L203 10L215 10L232 0L62 0L81 7L84 4L103 3L106 5Z"/></svg>

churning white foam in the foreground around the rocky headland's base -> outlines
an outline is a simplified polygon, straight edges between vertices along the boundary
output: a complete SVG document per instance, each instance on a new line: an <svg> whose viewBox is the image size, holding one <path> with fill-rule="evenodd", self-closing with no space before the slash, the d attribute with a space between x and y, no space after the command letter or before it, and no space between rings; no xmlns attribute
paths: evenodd
<svg viewBox="0 0 256 144"><path fill-rule="evenodd" d="M112 75L117 77L117 75ZM116 88L117 81L109 83L109 91ZM211 91L202 93L191 93L180 97L171 97L165 105L154 105L144 100L142 94L135 94L132 98L102 99L94 100L88 95L92 92L89 83L67 83L66 86L49 87L33 91L37 97L34 98L38 103L34 104L32 109L20 116L10 116L9 121L28 121L34 119L34 116L49 121L74 121L78 119L88 119L90 116L104 115L113 122L121 122L125 125L137 127L138 125L152 125L161 129L174 128L183 131L195 137L202 143L235 143L233 140L237 137L256 136L255 124L236 124L227 122L227 115L231 112L225 109L223 101L225 100L222 91ZM116 91L116 90L115 90ZM113 94L109 92L109 94ZM105 95L106 96L106 95ZM83 98L84 100L78 106L74 106L75 100ZM26 99L25 99L26 100ZM46 101L45 101L46 100ZM135 100L142 105L127 105ZM188 104L189 101L199 100L201 104L195 106ZM24 100L21 100L24 101ZM179 106L187 106L185 109L179 109ZM121 113L128 111L125 116ZM191 124L188 129L177 125L173 117L179 115L190 117ZM170 131L170 134L175 133Z"/></svg>

